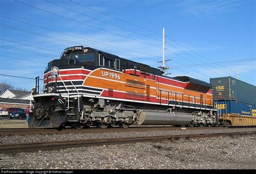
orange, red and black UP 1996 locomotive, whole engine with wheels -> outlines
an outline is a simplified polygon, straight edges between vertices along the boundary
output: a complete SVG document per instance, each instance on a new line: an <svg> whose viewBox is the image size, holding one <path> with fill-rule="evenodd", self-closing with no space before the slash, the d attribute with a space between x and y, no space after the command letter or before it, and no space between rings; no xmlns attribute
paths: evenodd
<svg viewBox="0 0 256 174"><path fill-rule="evenodd" d="M211 85L90 47L66 48L33 89L29 127L198 125L216 122Z"/></svg>

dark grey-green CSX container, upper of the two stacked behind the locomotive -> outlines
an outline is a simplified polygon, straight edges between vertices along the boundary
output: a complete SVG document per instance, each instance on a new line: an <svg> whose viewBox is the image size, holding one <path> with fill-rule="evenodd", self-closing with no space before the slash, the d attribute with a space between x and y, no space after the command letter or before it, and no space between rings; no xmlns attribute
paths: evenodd
<svg viewBox="0 0 256 174"><path fill-rule="evenodd" d="M233 77L210 78L213 100L234 100L256 105L256 86Z"/></svg>

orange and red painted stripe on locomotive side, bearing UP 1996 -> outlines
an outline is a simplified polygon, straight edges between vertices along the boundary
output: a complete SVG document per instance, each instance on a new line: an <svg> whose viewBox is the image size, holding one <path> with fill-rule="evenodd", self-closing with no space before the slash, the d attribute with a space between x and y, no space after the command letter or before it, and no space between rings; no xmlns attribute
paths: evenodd
<svg viewBox="0 0 256 174"><path fill-rule="evenodd" d="M149 77L152 78L152 76ZM165 84L160 82L165 82ZM173 83L179 83L179 85L170 85ZM91 71L83 83L85 86L105 89L101 95L103 97L145 100L154 103L168 103L169 99L212 105L211 90L207 93L186 90L184 88L187 84L159 76L155 79L143 78L139 77L139 73L138 76L134 76L105 68Z"/></svg>

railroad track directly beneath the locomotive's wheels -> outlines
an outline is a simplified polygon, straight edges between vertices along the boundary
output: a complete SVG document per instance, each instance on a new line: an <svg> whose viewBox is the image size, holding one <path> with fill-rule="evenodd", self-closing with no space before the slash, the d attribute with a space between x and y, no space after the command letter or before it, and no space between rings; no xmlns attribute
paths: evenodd
<svg viewBox="0 0 256 174"><path fill-rule="evenodd" d="M106 133L106 132L134 132L134 131L170 131L170 130L196 130L196 129L227 129L228 127L129 127L129 128L89 128L89 129L72 129L65 128L43 129L43 128L2 128L0 136L3 135L28 135L28 134L66 134L66 133Z"/></svg>

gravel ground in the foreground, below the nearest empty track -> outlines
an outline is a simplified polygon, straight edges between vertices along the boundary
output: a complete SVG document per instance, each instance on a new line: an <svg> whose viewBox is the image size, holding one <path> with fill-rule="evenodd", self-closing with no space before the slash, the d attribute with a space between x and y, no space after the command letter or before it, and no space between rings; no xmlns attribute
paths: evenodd
<svg viewBox="0 0 256 174"><path fill-rule="evenodd" d="M255 136L0 154L1 169L256 169Z"/></svg>

